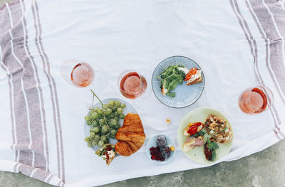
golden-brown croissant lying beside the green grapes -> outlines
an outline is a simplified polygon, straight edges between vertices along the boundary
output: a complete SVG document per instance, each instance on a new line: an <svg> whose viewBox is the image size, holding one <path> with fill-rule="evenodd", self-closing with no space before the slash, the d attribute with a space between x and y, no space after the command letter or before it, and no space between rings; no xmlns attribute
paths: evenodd
<svg viewBox="0 0 285 187"><path fill-rule="evenodd" d="M115 139L115 151L122 156L134 154L145 142L145 132L138 114L128 113L125 116L123 127L118 129Z"/></svg>

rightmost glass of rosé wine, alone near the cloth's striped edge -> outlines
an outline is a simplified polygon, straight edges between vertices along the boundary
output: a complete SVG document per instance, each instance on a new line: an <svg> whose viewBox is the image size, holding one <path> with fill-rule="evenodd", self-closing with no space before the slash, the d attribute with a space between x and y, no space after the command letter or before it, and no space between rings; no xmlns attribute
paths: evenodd
<svg viewBox="0 0 285 187"><path fill-rule="evenodd" d="M247 114L264 112L273 102L274 95L269 87L265 86L250 87L239 95L239 108Z"/></svg>

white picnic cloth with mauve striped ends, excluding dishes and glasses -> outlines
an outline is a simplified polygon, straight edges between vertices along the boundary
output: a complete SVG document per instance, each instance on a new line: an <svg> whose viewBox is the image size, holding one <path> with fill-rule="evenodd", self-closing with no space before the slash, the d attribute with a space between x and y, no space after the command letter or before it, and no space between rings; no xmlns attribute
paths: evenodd
<svg viewBox="0 0 285 187"><path fill-rule="evenodd" d="M197 107L223 112L234 130L232 161L266 149L284 138L284 1L43 1L24 0L0 8L0 170L26 174L58 186L105 183L205 167L177 146L170 164L148 161L145 144L110 166L84 141L87 89L60 74L64 60L81 59L106 75L96 90L102 99L120 97L117 78L139 70L150 78L172 55L195 60L204 71L202 97L190 107L166 107L150 92L129 100L138 109L147 142L157 133L177 144L182 117ZM100 82L97 82L100 84ZM239 93L266 85L274 107L256 115L238 107ZM170 125L165 124L169 117ZM177 144L178 145L178 144Z"/></svg>

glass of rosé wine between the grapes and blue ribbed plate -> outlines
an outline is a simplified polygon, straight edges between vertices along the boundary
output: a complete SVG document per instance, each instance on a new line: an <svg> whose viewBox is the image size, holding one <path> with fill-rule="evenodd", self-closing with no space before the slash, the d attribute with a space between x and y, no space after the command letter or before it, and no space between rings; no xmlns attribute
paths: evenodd
<svg viewBox="0 0 285 187"><path fill-rule="evenodd" d="M125 70L118 78L118 87L124 97L135 99L147 90L147 81L138 71Z"/></svg>

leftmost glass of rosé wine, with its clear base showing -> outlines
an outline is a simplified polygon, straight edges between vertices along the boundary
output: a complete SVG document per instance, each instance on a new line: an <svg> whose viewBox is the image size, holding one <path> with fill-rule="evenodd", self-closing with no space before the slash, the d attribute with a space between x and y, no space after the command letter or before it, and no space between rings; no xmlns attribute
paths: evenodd
<svg viewBox="0 0 285 187"><path fill-rule="evenodd" d="M63 79L76 87L94 85L102 89L102 85L105 85L105 77L100 74L102 73L95 72L93 68L83 60L68 59L61 65L61 76ZM96 82L100 82L100 84Z"/></svg>

